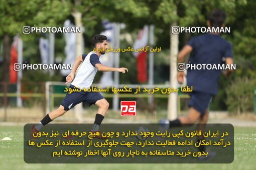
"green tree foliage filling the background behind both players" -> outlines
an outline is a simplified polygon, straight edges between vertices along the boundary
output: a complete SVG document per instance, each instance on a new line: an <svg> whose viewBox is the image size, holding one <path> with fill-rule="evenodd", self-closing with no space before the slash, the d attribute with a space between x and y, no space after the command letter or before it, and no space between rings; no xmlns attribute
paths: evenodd
<svg viewBox="0 0 256 170"><path fill-rule="evenodd" d="M176 21L180 26L206 26L207 16L216 8L224 10L227 14L226 26L231 27L231 33L221 36L233 45L236 70L229 79L220 77L219 92L213 98L211 109L230 110L231 103L228 99L231 95L230 89L233 89L236 81L239 81L237 83L239 86L246 86L247 83L239 77L247 77L248 81L256 78L256 1L254 0L0 0L0 44L3 43L5 35L13 37L19 33L24 44L24 60L40 63L38 42L42 34L22 34L24 25L63 26L67 18L74 22L73 11L81 11L86 53L92 49L93 35L103 30L101 21L104 19L125 23L126 27L121 30L121 34L130 33L133 40L137 36L138 29L145 24L154 24L155 46L162 47L162 51L155 55L155 83L165 83L169 81L170 73L170 25ZM177 11L177 14L174 11ZM194 35L197 33L179 34L179 48ZM64 59L64 36L57 33L55 37L55 56ZM120 44L122 48L133 45L125 39ZM130 69L129 74L120 76L120 83L138 83L135 64L136 59L132 53L121 53L120 65ZM0 71L2 78L6 70L0 69ZM62 79L58 71L54 78L40 71L24 72L24 75L26 75L24 81ZM100 74L97 75L96 81L99 80L99 76ZM245 90L250 89L247 92L253 93L251 89L254 88L255 82L253 81L250 86ZM165 99L159 102L167 103ZM252 111L252 107L249 106L246 111Z"/></svg>

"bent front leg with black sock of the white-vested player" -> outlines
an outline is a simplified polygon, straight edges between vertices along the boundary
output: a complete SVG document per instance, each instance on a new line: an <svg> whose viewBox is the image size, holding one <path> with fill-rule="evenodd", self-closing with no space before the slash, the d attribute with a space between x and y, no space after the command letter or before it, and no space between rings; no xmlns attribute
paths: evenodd
<svg viewBox="0 0 256 170"><path fill-rule="evenodd" d="M92 125L91 131L98 131L99 130L99 126L102 122L102 120L105 117L106 111L109 107L109 103L107 102L107 100L105 98L99 99L95 102L95 105L97 105L98 111L95 115L95 120L94 123Z"/></svg>

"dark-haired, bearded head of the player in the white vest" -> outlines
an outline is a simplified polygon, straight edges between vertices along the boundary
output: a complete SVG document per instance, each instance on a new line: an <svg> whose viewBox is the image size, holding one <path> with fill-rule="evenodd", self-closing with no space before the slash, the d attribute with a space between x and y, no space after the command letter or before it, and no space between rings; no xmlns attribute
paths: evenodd
<svg viewBox="0 0 256 170"><path fill-rule="evenodd" d="M107 37L105 35L95 35L92 38L93 46L99 51L101 54L105 53L105 49L107 49L106 43Z"/></svg>

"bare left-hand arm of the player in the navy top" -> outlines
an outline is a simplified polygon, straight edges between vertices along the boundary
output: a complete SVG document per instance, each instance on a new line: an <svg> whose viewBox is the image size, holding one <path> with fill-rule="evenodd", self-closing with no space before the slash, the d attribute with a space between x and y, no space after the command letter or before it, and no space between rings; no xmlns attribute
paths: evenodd
<svg viewBox="0 0 256 170"><path fill-rule="evenodd" d="M184 63L184 58L187 54L189 54L192 51L192 46L185 45L180 52L178 53L178 63ZM177 74L178 82L181 84L184 80L184 71L178 71Z"/></svg>

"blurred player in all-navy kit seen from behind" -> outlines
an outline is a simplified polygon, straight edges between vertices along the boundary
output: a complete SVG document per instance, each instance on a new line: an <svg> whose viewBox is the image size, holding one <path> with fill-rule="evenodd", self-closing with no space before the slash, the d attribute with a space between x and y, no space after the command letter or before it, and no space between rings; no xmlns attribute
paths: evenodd
<svg viewBox="0 0 256 170"><path fill-rule="evenodd" d="M233 64L232 45L220 37L219 32L213 32L213 28L224 27L225 12L213 10L207 20L207 26L211 28L211 33L192 37L178 54L178 63L184 62L184 57L190 53L189 64ZM169 123L169 127L182 126L186 123L206 123L208 120L208 105L214 94L217 93L218 78L222 70L218 69L188 69L187 85L193 86L190 92L189 111L185 116L180 116L175 120L160 120L160 123ZM224 75L232 72L232 69L223 70ZM178 82L182 83L184 71L178 71ZM199 124L200 126L200 124ZM202 128L199 127L199 128ZM200 140L200 138L199 138ZM203 145L199 148L204 151Z"/></svg>

